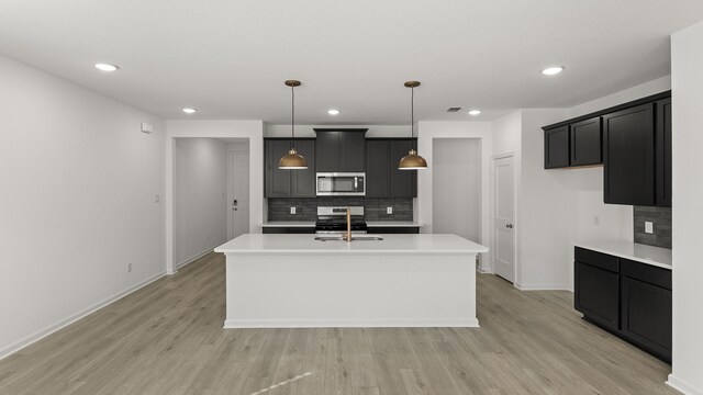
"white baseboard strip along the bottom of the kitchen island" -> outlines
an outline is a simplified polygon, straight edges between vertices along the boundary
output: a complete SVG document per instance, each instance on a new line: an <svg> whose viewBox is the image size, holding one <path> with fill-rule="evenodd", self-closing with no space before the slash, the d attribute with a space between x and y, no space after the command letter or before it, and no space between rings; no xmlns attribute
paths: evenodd
<svg viewBox="0 0 703 395"><path fill-rule="evenodd" d="M236 328L478 328L469 319L227 319L225 329Z"/></svg>

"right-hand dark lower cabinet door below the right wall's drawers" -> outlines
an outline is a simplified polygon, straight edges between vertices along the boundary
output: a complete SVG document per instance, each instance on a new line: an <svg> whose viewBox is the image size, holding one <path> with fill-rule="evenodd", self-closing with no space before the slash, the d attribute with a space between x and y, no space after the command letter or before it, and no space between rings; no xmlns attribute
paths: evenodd
<svg viewBox="0 0 703 395"><path fill-rule="evenodd" d="M671 291L623 278L623 335L671 361Z"/></svg>

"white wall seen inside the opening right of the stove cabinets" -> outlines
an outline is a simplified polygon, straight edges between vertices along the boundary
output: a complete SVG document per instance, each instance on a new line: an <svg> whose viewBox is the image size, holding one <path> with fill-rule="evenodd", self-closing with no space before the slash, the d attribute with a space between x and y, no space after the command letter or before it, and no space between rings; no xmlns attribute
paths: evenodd
<svg viewBox="0 0 703 395"><path fill-rule="evenodd" d="M481 239L481 144L478 138L442 138L433 146L433 228Z"/></svg>

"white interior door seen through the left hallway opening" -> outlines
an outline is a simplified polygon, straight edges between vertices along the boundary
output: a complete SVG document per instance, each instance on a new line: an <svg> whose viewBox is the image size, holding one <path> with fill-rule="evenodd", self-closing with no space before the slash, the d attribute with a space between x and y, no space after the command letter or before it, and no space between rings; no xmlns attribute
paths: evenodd
<svg viewBox="0 0 703 395"><path fill-rule="evenodd" d="M249 233L249 154L230 153L230 221L227 237Z"/></svg>

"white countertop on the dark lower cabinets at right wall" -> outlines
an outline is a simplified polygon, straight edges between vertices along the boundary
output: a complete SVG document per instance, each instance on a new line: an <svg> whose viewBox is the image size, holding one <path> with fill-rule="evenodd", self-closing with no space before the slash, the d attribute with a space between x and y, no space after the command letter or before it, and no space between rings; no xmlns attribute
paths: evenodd
<svg viewBox="0 0 703 395"><path fill-rule="evenodd" d="M576 247L612 255L671 270L671 250L633 241L607 240L576 242Z"/></svg>

